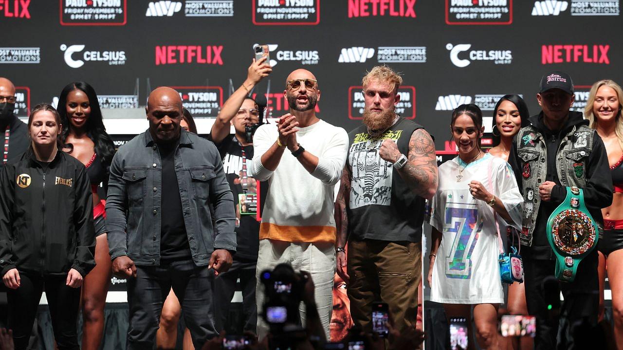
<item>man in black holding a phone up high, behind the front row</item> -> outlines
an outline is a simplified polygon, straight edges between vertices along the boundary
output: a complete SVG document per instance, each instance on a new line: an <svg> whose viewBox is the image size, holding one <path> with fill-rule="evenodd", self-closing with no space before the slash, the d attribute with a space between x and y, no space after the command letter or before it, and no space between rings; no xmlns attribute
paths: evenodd
<svg viewBox="0 0 623 350"><path fill-rule="evenodd" d="M243 201L247 196L256 198L258 196L255 179L251 174L254 156L253 140L247 139L245 129L247 126L257 126L262 121L263 111L260 111L255 100L249 97L249 92L272 72L270 65L265 61L266 57L257 61L253 60L247 69L246 80L222 106L209 136L209 140L212 140L219 149L223 160L223 170L236 204L235 232L238 247L232 267L228 272L219 274L216 278L214 293L216 329L217 331L226 329L230 333L232 329L226 327L227 316L231 309L231 300L238 278L240 278L240 288L242 288L243 329L255 332L257 328L255 265L257 265L260 242L260 224L257 222L256 215L249 214L248 210L244 210L247 209L246 206L243 207ZM234 133L229 132L232 125ZM253 185L249 186L251 183Z"/></svg>

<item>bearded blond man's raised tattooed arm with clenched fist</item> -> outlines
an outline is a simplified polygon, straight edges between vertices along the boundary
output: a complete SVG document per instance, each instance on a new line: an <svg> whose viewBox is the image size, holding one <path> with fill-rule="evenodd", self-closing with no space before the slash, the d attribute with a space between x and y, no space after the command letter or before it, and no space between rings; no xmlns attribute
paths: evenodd
<svg viewBox="0 0 623 350"><path fill-rule="evenodd" d="M379 151L381 158L396 163L401 153L392 140L385 140ZM431 199L437 191L437 159L435 143L424 129L417 129L409 140L407 164L396 171L418 196Z"/></svg>

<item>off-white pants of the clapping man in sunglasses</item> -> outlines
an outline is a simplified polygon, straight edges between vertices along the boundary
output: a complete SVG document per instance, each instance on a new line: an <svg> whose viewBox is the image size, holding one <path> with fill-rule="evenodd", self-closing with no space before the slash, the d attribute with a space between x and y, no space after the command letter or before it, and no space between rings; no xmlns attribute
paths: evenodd
<svg viewBox="0 0 623 350"><path fill-rule="evenodd" d="M292 268L299 272L307 271L312 275L315 286L314 295L318 315L326 339L329 339L329 323L331 311L333 311L333 275L335 274L335 245L332 243L292 243L280 240L260 240L260 250L257 257L257 288L255 299L257 300L257 336L263 339L269 333L269 325L265 323L260 313L264 310L264 285L260 280L260 273L264 270L272 270L280 263L289 263ZM301 323L305 326L305 306L299 306Z"/></svg>

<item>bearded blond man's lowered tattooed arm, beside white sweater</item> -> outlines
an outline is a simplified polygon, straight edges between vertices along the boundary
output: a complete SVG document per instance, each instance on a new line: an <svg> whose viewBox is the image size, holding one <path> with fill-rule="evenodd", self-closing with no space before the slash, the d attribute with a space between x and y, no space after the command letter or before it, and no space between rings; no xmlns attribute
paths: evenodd
<svg viewBox="0 0 623 350"><path fill-rule="evenodd" d="M348 214L346 208L348 206L350 196L350 177L351 172L348 169L348 163L345 164L342 171L342 177L340 182L340 191L338 191L338 198L335 201L335 226L337 229L335 246L346 247L346 239L348 235ZM336 272L342 280L348 283L348 272L346 272L346 253L337 252L336 255Z"/></svg>

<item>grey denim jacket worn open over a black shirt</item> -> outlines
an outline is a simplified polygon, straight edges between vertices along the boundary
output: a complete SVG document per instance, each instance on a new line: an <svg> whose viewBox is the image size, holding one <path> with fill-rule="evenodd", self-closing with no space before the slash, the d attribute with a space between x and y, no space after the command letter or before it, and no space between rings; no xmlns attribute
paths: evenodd
<svg viewBox="0 0 623 350"><path fill-rule="evenodd" d="M191 255L197 266L206 266L215 249L235 251L234 197L211 141L181 130L174 164ZM161 179L162 161L149 130L115 154L106 201L111 259L127 255L136 265L159 265Z"/></svg>

